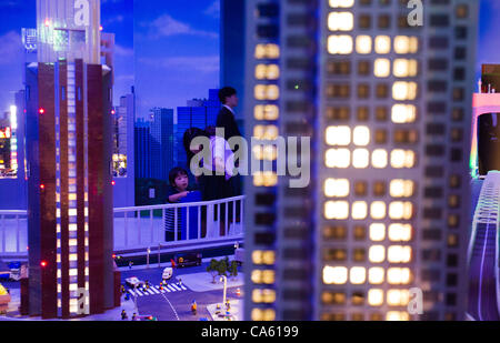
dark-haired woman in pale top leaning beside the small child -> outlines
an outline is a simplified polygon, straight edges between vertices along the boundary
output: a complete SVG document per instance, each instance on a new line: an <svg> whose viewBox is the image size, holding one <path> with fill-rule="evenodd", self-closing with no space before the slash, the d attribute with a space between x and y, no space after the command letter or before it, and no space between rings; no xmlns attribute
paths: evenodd
<svg viewBox="0 0 500 343"><path fill-rule="evenodd" d="M209 161L203 159L199 160L200 169L203 169L203 173L197 176L197 182L201 192L202 201L219 200L226 198L236 196L234 185L232 184L234 155L228 144L228 142L216 135L213 127L208 127L206 130L199 128L190 128L186 130L183 135L183 145L186 154L188 157L188 167L191 168L191 160L198 153L203 153L203 145L191 144L196 138L206 138L206 142L209 143ZM193 174L194 171L191 170ZM228 203L228 219L232 221L232 202ZM217 220L217 209L214 211L214 220ZM207 216L207 209L201 209L202 219ZM206 223L203 225L206 231ZM226 231L226 204L220 204L220 235L224 235ZM202 234L203 235L203 234Z"/></svg>

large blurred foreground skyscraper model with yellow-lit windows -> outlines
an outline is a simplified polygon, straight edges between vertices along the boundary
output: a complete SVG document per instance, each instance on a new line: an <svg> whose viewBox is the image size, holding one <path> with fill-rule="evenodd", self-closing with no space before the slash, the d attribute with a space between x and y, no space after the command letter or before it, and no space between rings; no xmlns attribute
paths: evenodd
<svg viewBox="0 0 500 343"><path fill-rule="evenodd" d="M464 317L478 2L408 4L247 1L252 153L311 137L308 188L246 183L247 320Z"/></svg>

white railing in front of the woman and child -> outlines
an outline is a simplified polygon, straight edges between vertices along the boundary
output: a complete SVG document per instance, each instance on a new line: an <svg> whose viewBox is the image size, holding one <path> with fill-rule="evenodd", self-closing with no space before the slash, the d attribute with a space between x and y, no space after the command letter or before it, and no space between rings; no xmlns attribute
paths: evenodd
<svg viewBox="0 0 500 343"><path fill-rule="evenodd" d="M244 195L177 204L113 209L114 251L161 246L222 245L243 238ZM173 235L166 236L166 215L173 214ZM27 255L27 211L0 211L0 256Z"/></svg>

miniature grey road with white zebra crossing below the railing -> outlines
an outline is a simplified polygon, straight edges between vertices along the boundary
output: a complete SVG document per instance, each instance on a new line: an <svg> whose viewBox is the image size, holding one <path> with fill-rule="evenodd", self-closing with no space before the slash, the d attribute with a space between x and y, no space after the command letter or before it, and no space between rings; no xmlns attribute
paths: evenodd
<svg viewBox="0 0 500 343"><path fill-rule="evenodd" d="M151 287L147 292L137 294L137 305L140 315L152 315L159 321L199 321L211 320L207 305L222 302L222 290L193 292L184 285L177 284L177 278L184 274L206 272L208 263L200 266L176 269L173 276L168 281L169 286L160 290L161 273L163 269L151 268L142 270L128 270L121 272L121 281L124 284L127 278L137 276L142 281L149 281ZM183 290L184 287L186 290ZM157 292L158 291L158 292ZM228 297L237 299L236 287L228 287ZM198 313L191 313L191 303L197 302ZM131 314L130 314L131 315Z"/></svg>

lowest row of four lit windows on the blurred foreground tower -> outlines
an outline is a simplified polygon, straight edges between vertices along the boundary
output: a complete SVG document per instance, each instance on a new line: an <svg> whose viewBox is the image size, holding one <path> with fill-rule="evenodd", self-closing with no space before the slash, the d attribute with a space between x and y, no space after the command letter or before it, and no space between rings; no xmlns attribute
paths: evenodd
<svg viewBox="0 0 500 343"><path fill-rule="evenodd" d="M409 268L389 268L381 266L330 266L323 268L323 283L324 284L364 284L367 281L370 284L409 284L412 281L412 275Z"/></svg>

